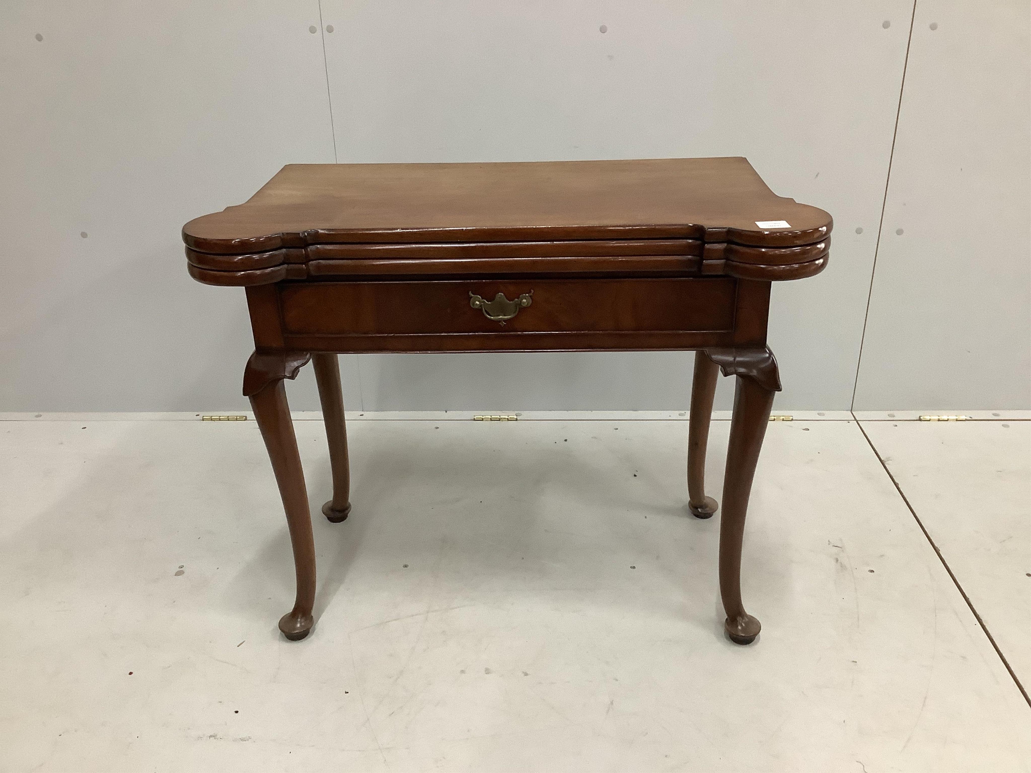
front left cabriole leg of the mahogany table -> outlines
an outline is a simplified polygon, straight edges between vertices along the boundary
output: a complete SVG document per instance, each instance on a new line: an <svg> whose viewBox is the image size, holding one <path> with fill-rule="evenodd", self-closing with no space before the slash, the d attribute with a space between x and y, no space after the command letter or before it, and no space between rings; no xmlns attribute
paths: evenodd
<svg viewBox="0 0 1031 773"><path fill-rule="evenodd" d="M314 623L311 607L315 600L315 544L311 535L304 471L301 469L282 379L296 376L306 362L307 355L256 352L247 362L243 376L243 392L251 398L258 428L268 448L294 548L297 599L294 608L279 619L279 630L288 639L295 641L307 636Z"/></svg>

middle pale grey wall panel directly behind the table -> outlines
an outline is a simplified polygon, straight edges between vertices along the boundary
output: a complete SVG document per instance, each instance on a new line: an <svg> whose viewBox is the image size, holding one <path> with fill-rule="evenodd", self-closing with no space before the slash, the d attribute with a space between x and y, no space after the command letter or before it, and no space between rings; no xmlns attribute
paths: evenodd
<svg viewBox="0 0 1031 773"><path fill-rule="evenodd" d="M847 408L911 10L911 0L323 0L338 158L746 156L776 193L835 220L825 273L773 290L777 406ZM691 362L369 356L364 406L684 407Z"/></svg>

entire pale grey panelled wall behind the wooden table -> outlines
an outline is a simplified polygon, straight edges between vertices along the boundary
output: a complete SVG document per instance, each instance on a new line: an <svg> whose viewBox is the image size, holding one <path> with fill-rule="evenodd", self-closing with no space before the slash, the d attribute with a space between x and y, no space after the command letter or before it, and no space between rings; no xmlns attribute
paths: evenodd
<svg viewBox="0 0 1031 773"><path fill-rule="evenodd" d="M242 291L178 231L285 163L720 155L835 219L827 271L774 285L778 408L1029 407L1029 9L7 0L0 410L243 407ZM341 358L368 410L683 408L691 364Z"/></svg>

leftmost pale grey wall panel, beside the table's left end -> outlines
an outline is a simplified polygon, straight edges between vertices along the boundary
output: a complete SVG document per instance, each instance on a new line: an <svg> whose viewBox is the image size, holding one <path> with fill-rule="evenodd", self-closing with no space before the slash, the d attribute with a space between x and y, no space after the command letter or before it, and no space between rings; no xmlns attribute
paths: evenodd
<svg viewBox="0 0 1031 773"><path fill-rule="evenodd" d="M191 279L179 229L333 161L319 23L317 0L0 4L3 409L246 405L243 292Z"/></svg>

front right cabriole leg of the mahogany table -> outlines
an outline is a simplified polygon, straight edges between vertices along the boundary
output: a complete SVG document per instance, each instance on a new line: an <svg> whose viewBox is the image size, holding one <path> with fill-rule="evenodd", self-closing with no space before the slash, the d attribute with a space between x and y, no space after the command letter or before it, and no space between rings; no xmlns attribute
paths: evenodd
<svg viewBox="0 0 1031 773"><path fill-rule="evenodd" d="M709 349L708 355L725 375L737 376L720 519L720 595L727 635L737 644L751 644L761 626L741 603L741 542L756 463L780 379L768 348Z"/></svg>

